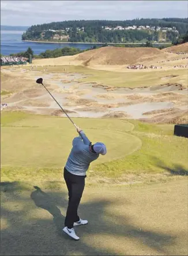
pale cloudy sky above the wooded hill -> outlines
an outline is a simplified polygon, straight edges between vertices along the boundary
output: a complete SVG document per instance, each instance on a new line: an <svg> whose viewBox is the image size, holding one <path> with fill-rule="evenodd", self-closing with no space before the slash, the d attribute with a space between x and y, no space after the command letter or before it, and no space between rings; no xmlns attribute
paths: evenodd
<svg viewBox="0 0 188 256"><path fill-rule="evenodd" d="M186 18L188 1L4 1L1 25L35 25L64 20Z"/></svg>

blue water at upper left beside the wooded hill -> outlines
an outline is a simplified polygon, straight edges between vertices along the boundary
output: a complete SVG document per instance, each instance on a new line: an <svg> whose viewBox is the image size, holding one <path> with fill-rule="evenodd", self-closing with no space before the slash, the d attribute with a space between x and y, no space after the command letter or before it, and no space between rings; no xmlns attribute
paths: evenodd
<svg viewBox="0 0 188 256"><path fill-rule="evenodd" d="M11 53L25 52L28 47L31 47L34 54L40 54L46 50L54 50L62 47L76 47L80 50L89 49L93 44L87 43L33 43L22 42L21 35L24 31L1 30L1 54L9 55ZM97 45L100 46L100 45Z"/></svg>

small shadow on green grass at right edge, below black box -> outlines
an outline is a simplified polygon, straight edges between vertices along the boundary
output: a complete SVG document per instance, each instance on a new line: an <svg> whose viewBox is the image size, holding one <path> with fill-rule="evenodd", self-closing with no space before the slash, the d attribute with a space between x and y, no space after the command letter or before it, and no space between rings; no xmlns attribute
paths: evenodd
<svg viewBox="0 0 188 256"><path fill-rule="evenodd" d="M173 164L173 168L167 166L162 160L156 157L152 157L153 162L157 167L160 167L172 175L187 176L188 170L186 170L181 164Z"/></svg>

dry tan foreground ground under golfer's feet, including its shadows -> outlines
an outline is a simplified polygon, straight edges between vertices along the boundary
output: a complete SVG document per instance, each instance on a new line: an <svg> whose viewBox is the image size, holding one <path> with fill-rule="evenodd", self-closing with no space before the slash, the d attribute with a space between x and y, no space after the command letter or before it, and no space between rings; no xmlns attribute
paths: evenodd
<svg viewBox="0 0 188 256"><path fill-rule="evenodd" d="M35 185L35 184L33 184ZM86 185L75 242L61 234L62 190L11 190L1 196L1 255L187 255L187 180L139 186ZM6 192L5 192L6 191Z"/></svg>

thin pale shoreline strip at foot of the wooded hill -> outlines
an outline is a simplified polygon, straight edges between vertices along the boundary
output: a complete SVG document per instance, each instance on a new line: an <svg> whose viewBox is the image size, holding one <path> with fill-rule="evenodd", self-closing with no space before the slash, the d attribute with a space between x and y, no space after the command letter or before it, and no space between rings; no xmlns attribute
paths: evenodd
<svg viewBox="0 0 188 256"><path fill-rule="evenodd" d="M104 45L105 43L86 43L86 42L46 42L46 41L30 41L22 40L22 42L31 42L31 43L59 43L61 44L83 44L83 45ZM107 45L145 45L146 43L107 43ZM170 45L171 43L152 43L153 45Z"/></svg>

